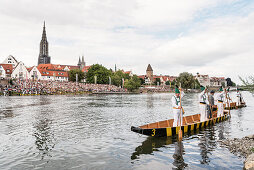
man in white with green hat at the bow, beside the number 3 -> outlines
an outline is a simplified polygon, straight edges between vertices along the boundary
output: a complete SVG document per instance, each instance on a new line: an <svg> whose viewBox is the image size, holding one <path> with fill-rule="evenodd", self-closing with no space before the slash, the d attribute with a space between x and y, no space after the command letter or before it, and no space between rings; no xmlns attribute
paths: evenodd
<svg viewBox="0 0 254 170"><path fill-rule="evenodd" d="M181 98L184 96L184 92L180 88L180 90L176 87L175 88L175 95L173 95L171 102L172 102L172 108L173 108L173 114L174 114L174 122L173 126L180 126L183 124L183 109L180 103L180 91L181 91ZM181 118L181 119L180 119Z"/></svg>

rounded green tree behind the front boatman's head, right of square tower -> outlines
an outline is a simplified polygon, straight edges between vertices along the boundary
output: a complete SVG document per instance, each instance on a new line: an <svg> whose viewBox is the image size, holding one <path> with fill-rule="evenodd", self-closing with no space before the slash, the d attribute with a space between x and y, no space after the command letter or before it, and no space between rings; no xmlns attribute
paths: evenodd
<svg viewBox="0 0 254 170"><path fill-rule="evenodd" d="M181 83L182 88L187 90L194 87L195 78L191 73L183 72L179 74L176 81L178 85Z"/></svg>

